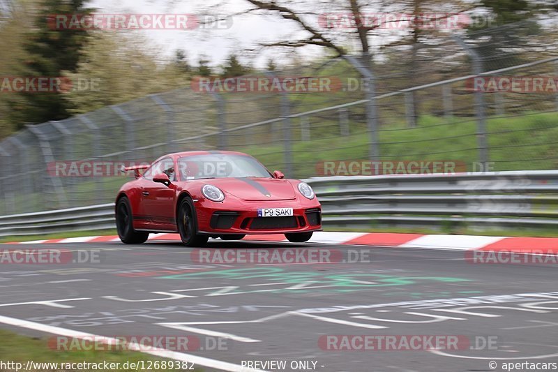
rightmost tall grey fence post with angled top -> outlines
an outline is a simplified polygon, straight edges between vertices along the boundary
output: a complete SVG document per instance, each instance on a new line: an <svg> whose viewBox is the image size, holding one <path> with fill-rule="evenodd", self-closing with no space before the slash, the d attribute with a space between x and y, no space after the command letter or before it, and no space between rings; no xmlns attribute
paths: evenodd
<svg viewBox="0 0 558 372"><path fill-rule="evenodd" d="M481 56L459 36L453 36L455 41L460 45L472 59L472 73L480 76L483 73L483 63ZM485 122L485 102L483 92L478 90L474 92L475 115L477 122L476 138L478 146L478 161L483 165L483 169L487 169L488 165L488 143L486 138L486 122Z"/></svg>

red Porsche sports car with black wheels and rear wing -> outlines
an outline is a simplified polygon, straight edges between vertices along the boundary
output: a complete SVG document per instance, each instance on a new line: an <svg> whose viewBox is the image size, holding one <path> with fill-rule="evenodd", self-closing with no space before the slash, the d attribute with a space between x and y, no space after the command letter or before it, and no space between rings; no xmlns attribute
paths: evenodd
<svg viewBox="0 0 558 372"><path fill-rule="evenodd" d="M121 187L115 212L127 244L143 243L150 232L177 231L187 246L246 234L303 242L322 228L322 208L308 184L271 173L240 152L179 152L125 170L136 179Z"/></svg>

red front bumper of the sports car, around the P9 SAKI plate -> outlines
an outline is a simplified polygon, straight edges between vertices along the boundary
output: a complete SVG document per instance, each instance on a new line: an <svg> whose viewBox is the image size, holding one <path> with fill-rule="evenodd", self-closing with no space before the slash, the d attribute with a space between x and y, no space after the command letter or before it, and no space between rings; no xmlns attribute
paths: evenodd
<svg viewBox="0 0 558 372"><path fill-rule="evenodd" d="M322 208L317 200L301 206L298 200L246 202L242 207L204 202L196 206L201 234L278 234L322 230ZM208 207L209 204L209 207ZM292 208L293 216L258 217L260 208Z"/></svg>

